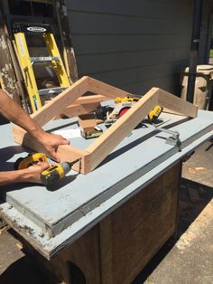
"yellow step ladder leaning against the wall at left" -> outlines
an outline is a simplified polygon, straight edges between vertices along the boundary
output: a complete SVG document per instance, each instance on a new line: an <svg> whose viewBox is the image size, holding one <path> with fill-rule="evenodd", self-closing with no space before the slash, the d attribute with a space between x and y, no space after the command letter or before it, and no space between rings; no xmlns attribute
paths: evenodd
<svg viewBox="0 0 213 284"><path fill-rule="evenodd" d="M42 107L40 96L59 94L61 91L70 86L69 78L61 60L60 52L50 25L15 23L13 32L14 49L23 73L23 80L28 91L32 112L35 112L37 109ZM32 35L42 33L42 38L50 56L31 57L26 42L26 33L30 33ZM56 72L60 87L38 90L32 66L33 64L41 62L51 64L51 68Z"/></svg>

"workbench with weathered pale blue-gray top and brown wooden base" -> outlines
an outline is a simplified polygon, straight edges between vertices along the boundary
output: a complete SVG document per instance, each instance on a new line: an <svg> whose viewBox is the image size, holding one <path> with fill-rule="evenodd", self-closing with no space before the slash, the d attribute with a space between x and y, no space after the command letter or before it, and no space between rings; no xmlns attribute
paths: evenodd
<svg viewBox="0 0 213 284"><path fill-rule="evenodd" d="M161 127L180 133L181 147L149 124L135 128L88 175L1 189L1 216L32 255L65 283L130 283L176 232L181 163L213 137L213 113L197 118L163 113ZM76 118L51 121L46 130L76 128ZM1 126L1 170L26 155L11 125ZM84 149L90 140L71 144Z"/></svg>

